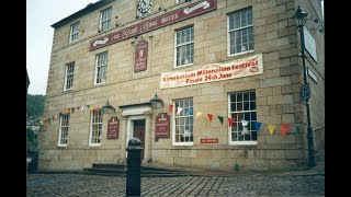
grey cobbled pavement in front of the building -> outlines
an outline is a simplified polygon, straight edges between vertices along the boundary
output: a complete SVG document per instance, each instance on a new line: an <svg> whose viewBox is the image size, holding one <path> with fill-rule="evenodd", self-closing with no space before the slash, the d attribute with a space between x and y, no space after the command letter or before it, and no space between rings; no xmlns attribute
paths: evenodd
<svg viewBox="0 0 351 197"><path fill-rule="evenodd" d="M325 196L325 152L315 167L286 172L191 171L178 177L141 177L141 196ZM196 175L197 174L197 175ZM87 174L27 174L26 196L125 196L126 177Z"/></svg>

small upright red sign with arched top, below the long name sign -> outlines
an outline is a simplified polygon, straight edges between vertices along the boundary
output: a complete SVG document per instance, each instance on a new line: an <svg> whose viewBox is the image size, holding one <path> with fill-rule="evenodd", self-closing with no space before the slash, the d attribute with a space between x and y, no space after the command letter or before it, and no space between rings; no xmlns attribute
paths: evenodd
<svg viewBox="0 0 351 197"><path fill-rule="evenodd" d="M147 42L145 39L141 39L135 46L134 72L143 71L146 69L147 69Z"/></svg>

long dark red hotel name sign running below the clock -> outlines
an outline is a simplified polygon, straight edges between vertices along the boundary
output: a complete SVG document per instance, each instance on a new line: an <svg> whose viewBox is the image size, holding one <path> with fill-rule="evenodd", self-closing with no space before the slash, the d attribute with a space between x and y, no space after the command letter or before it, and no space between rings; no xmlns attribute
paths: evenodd
<svg viewBox="0 0 351 197"><path fill-rule="evenodd" d="M216 9L216 0L205 0L201 2L195 2L188 7L174 10L167 14L159 15L154 19L149 19L132 25L129 27L120 30L117 32L111 33L106 36L99 37L90 42L89 50L94 50L113 43L117 43L136 35L140 35L190 18L200 15Z"/></svg>

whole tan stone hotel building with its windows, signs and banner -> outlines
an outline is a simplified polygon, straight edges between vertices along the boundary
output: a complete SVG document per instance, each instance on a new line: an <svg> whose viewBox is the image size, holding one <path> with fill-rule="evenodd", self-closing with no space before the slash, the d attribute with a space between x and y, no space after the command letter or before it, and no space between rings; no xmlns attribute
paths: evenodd
<svg viewBox="0 0 351 197"><path fill-rule="evenodd" d="M305 164L301 42L292 20L299 4L308 13L314 144L324 146L319 1L138 2L99 1L52 25L39 170L125 163L133 137L143 141L144 162L220 170L236 162ZM150 103L155 93L163 105ZM101 109L106 101L114 113Z"/></svg>

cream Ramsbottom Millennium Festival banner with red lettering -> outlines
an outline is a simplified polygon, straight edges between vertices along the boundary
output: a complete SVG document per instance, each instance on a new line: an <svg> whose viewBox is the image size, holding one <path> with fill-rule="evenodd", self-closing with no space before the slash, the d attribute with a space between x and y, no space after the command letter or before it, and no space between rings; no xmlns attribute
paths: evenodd
<svg viewBox="0 0 351 197"><path fill-rule="evenodd" d="M263 73L262 54L225 63L212 63L189 71L161 73L161 89L193 85Z"/></svg>

